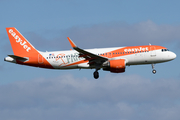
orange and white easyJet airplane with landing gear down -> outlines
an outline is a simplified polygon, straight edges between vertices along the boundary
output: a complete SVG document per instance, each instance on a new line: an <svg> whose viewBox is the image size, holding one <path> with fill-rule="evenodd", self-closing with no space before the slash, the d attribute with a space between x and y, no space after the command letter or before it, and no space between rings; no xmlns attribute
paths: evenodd
<svg viewBox="0 0 180 120"><path fill-rule="evenodd" d="M127 46L112 48L81 49L69 38L74 50L41 52L14 27L6 28L14 55L8 55L4 61L20 65L48 69L95 69L95 79L99 70L112 73L125 72L126 66L154 64L171 61L176 54L157 45Z"/></svg>

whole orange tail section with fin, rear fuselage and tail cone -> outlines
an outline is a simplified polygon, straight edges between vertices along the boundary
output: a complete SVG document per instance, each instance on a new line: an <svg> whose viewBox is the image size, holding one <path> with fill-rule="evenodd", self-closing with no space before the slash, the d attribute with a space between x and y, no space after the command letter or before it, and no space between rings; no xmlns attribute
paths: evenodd
<svg viewBox="0 0 180 120"><path fill-rule="evenodd" d="M6 28L14 55L4 60L42 68L53 68L51 64L37 51L31 43L14 27Z"/></svg>

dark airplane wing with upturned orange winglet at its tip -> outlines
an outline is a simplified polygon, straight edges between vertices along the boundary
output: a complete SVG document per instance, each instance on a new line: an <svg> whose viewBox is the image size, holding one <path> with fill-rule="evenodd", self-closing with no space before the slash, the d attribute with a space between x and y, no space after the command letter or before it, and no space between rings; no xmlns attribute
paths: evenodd
<svg viewBox="0 0 180 120"><path fill-rule="evenodd" d="M90 61L93 61L96 63L103 63L108 60L108 58L96 55L94 53L85 51L85 50L77 47L69 37L67 37L67 38L68 38L71 46L73 47L73 49L79 52L80 57L84 57L86 60L90 60ZM89 64L91 64L91 62Z"/></svg>

